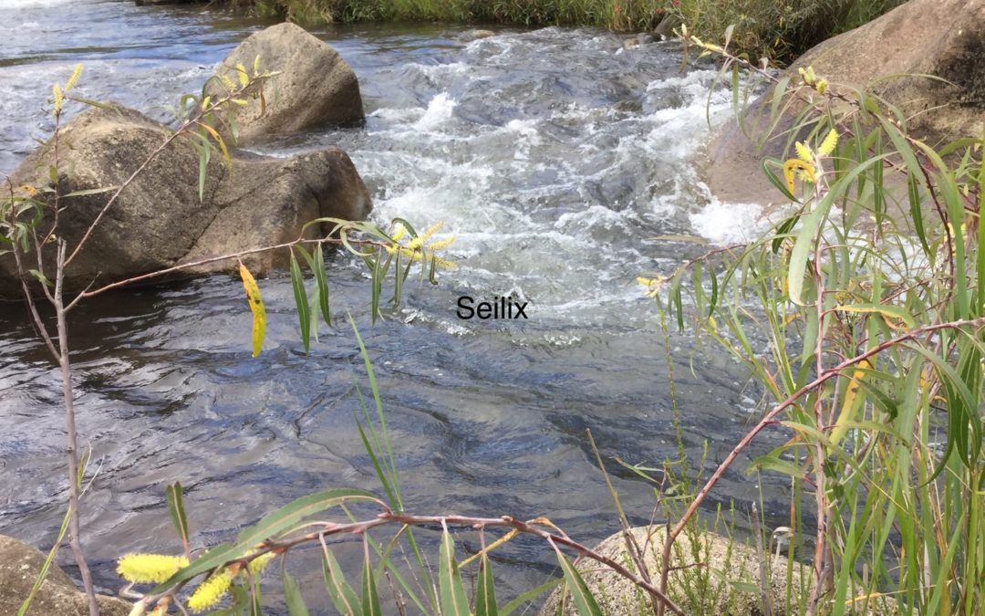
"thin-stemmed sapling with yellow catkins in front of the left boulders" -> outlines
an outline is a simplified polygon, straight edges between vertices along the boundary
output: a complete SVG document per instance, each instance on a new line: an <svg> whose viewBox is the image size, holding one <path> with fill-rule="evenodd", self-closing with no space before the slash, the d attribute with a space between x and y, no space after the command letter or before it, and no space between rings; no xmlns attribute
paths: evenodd
<svg viewBox="0 0 985 616"><path fill-rule="evenodd" d="M226 113L226 109L231 104L244 104L245 99L249 97L259 98L263 104L265 100L264 84L271 77L277 75L275 72L260 70L259 56L254 62L252 71L238 65L236 67L238 83L228 78L218 80L218 88L223 94L210 95L207 92L209 86L207 83L200 96L189 94L181 97L180 103L173 109L176 116L174 129L168 132L160 146L146 160L132 162L133 171L120 185L62 193L59 179L65 175L71 175L72 172L70 166L63 164L64 161L60 156L61 151L70 145L63 144L61 137L61 123L65 113L65 105L66 103L82 103L84 105L105 106L103 103L81 98L75 94L82 70L82 65L76 66L64 85L58 84L52 88L50 108L54 120L54 129L51 136L52 160L47 170L50 181L40 186L15 186L8 177L6 180L7 195L0 200L0 254L13 254L21 279L24 302L31 315L35 331L60 370L67 433L66 461L69 478L68 508L58 539L33 585L31 595L27 597L18 611L18 616L26 614L30 608L33 596L43 582L50 563L66 533L85 588L90 614L93 616L99 614L92 575L83 551L82 529L79 524L80 495L85 485L87 459L84 457L80 463L75 421L75 394L72 387L69 314L81 302L120 287L180 273L183 270L207 263L240 259L246 255L262 251L286 249L291 251L292 286L296 294L299 327L306 351L309 347L310 337L312 335L317 337L317 315L320 313L324 320L331 324L328 302L329 290L322 251L323 244L342 246L361 257L365 262L371 278L371 302L374 320L381 314L383 283L391 271L394 273L392 277L394 290L390 301L392 305L396 306L400 301L403 285L410 275L414 263L421 265L422 276L431 281L434 280L434 272L438 267L454 265L435 254L437 250L447 247L454 241L453 237L428 241L437 231L439 225L418 234L407 221L394 221L390 230L386 231L373 223L321 218L308 222L297 240L260 246L195 262L181 263L170 268L102 286L92 284L78 292L66 290L63 285L66 267L71 265L72 260L86 246L103 216L114 206L119 207L120 195L141 173L148 169L165 148L173 144L177 147L194 148L198 153L200 162L199 195L201 197L206 170L213 155L221 153L224 161L230 162L230 150L227 143L227 139L230 138L224 137L223 134L234 136L235 125ZM234 137L231 139L234 140ZM71 207L74 197L101 193L108 196L99 214L91 222L82 238L74 245L68 245L66 240L60 236L59 213L65 208ZM328 225L332 231L322 238L307 239L305 231L309 227L317 225ZM48 245L53 245L53 254L45 248ZM300 255L311 270L314 283L311 285L310 295L305 288L296 255ZM253 355L256 356L263 344L266 311L255 279L241 262L239 274L253 314L251 338ZM53 313L53 325L48 311Z"/></svg>

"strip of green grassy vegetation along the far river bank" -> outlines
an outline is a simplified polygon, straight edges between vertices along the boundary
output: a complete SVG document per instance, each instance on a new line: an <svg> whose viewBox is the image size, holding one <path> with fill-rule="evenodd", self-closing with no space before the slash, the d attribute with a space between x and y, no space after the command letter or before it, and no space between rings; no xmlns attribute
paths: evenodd
<svg viewBox="0 0 985 616"><path fill-rule="evenodd" d="M825 38L857 28L904 0L226 0L300 23L438 21L597 26L650 31L664 20L714 40L735 25L733 48L788 62Z"/></svg>

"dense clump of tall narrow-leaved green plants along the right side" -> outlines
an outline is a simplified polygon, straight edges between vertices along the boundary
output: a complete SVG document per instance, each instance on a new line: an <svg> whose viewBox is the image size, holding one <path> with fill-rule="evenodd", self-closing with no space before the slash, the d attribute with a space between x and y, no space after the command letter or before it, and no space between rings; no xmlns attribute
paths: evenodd
<svg viewBox="0 0 985 616"><path fill-rule="evenodd" d="M665 559L740 453L780 430L789 440L751 470L790 478L791 547L811 562L785 613L983 613L983 140L932 147L885 101L810 67L758 71L728 51L731 30L724 47L684 34L723 59L740 118L740 70L767 80L766 129L745 128L765 139L792 117L797 156L763 163L791 203L769 232L642 280L750 371L766 407Z"/></svg>

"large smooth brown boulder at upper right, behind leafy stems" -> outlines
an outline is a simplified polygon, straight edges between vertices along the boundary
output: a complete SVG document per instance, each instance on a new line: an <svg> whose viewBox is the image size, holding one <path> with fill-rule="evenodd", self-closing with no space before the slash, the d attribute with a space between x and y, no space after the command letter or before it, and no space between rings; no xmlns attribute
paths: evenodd
<svg viewBox="0 0 985 616"><path fill-rule="evenodd" d="M935 143L977 137L985 129L983 54L985 0L910 0L817 45L786 75L796 80L798 69L812 66L834 89L861 87L899 106L913 134ZM768 114L771 95L763 95L747 110L748 125ZM774 133L792 125L797 105L791 108ZM764 136L761 127L766 125L760 121L753 137ZM786 137L772 139L756 152L735 121L726 124L709 150L712 192L729 202L781 199L759 161L762 156L780 156Z"/></svg>

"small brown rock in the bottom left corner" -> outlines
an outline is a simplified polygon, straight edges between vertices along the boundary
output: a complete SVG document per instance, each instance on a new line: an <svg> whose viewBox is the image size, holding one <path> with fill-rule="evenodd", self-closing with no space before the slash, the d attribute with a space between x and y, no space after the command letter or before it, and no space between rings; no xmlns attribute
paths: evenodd
<svg viewBox="0 0 985 616"><path fill-rule="evenodd" d="M44 554L17 539L0 535L0 614L16 614L31 594L44 565ZM127 616L132 604L111 596L97 597L102 616ZM86 595L52 564L31 602L28 616L88 616Z"/></svg>

